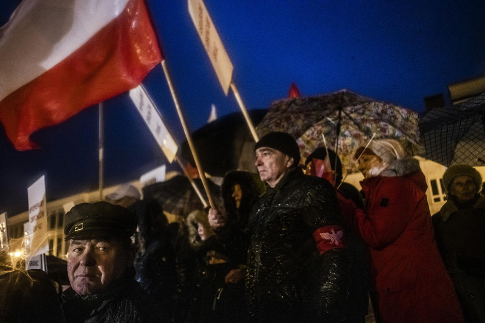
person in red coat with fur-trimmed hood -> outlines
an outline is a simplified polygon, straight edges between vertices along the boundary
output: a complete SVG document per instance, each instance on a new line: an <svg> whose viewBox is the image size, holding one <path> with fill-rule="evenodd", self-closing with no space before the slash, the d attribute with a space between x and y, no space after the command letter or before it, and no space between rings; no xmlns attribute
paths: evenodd
<svg viewBox="0 0 485 323"><path fill-rule="evenodd" d="M374 140L358 156L365 209L346 222L369 247L378 322L463 322L434 240L419 161L405 158L392 139Z"/></svg>

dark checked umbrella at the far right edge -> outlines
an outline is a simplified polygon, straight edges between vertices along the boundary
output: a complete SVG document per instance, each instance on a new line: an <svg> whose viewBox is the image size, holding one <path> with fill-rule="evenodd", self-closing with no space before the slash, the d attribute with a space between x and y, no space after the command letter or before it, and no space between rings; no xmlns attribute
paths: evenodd
<svg viewBox="0 0 485 323"><path fill-rule="evenodd" d="M420 116L425 157L442 165L485 166L485 93Z"/></svg>

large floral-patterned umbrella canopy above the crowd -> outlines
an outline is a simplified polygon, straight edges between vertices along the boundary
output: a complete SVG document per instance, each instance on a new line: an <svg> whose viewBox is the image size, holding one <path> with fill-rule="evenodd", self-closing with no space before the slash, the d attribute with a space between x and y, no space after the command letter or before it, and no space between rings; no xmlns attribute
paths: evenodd
<svg viewBox="0 0 485 323"><path fill-rule="evenodd" d="M322 135L331 149L335 149L338 138L344 168L352 166L356 149L366 145L373 133L375 139L398 140L410 156L423 153L417 113L347 90L276 101L256 130L259 135L270 131L290 133L297 139L302 160L324 146Z"/></svg>

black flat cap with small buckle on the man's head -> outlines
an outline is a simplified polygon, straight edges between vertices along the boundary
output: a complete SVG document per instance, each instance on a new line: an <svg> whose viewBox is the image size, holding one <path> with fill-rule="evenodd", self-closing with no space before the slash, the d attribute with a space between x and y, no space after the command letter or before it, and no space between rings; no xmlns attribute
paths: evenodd
<svg viewBox="0 0 485 323"><path fill-rule="evenodd" d="M130 237L136 230L136 217L126 208L108 202L81 203L64 216L64 240Z"/></svg>

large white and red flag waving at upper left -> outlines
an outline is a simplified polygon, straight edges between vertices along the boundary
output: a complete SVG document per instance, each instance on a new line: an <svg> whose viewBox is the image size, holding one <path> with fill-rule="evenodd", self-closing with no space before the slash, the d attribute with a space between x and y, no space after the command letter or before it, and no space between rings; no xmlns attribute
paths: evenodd
<svg viewBox="0 0 485 323"><path fill-rule="evenodd" d="M18 150L162 60L144 0L24 0L0 29L0 57L0 121Z"/></svg>

